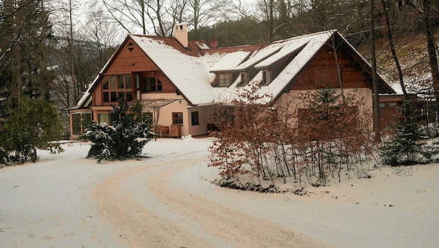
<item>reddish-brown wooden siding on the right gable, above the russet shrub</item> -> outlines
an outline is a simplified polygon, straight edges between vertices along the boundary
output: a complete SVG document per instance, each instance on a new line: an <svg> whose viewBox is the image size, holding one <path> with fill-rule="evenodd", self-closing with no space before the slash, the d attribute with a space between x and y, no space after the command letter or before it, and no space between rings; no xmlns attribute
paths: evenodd
<svg viewBox="0 0 439 248"><path fill-rule="evenodd" d="M344 88L371 88L371 84L363 77L360 65L348 59L346 52L337 51L341 66L341 81ZM307 90L316 88L340 88L337 63L334 50L326 45L316 58L295 79L291 90Z"/></svg>

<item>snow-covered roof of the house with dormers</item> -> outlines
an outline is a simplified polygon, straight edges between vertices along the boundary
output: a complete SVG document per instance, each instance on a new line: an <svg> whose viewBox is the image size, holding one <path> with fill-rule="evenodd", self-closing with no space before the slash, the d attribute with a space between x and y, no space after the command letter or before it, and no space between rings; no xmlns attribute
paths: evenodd
<svg viewBox="0 0 439 248"><path fill-rule="evenodd" d="M369 65L336 30L280 40L269 45L226 49L208 49L203 42L192 41L192 44L197 46L199 52L187 51L176 45L174 46L169 40L171 38L137 35L128 35L128 38L132 39L148 58L160 68L162 73L178 88L178 91L190 104L202 105L215 102L231 102L246 87L249 88L252 84L262 82L260 69L270 67L276 61L286 58L286 56L294 55L286 67L278 75L275 75L275 78L272 78L272 82L261 86L257 92L259 95L269 94L276 98L334 35L337 35L337 38L341 38L341 42L348 45L348 49L356 54L357 59L362 64ZM259 72L249 79L247 86L237 87L240 81L239 77L229 87L213 86L215 80L215 73L213 72L239 72L251 67L259 70ZM105 68L102 68L100 75ZM96 77L93 84L98 80L99 76ZM389 86L387 87L387 91L392 92L392 89ZM86 99L90 97L90 89L79 103L84 104Z"/></svg>

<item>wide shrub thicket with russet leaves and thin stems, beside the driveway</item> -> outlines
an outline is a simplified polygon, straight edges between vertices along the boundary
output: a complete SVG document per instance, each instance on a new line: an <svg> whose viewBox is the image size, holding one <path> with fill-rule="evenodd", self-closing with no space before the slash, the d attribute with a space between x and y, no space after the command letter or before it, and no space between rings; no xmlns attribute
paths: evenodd
<svg viewBox="0 0 439 248"><path fill-rule="evenodd" d="M233 107L213 109L217 141L209 147L209 166L224 178L248 173L259 180L292 177L296 182L330 177L341 180L341 170L351 170L373 150L370 114L355 92L345 96L321 89L300 96L303 109L261 104L256 88L245 89Z"/></svg>

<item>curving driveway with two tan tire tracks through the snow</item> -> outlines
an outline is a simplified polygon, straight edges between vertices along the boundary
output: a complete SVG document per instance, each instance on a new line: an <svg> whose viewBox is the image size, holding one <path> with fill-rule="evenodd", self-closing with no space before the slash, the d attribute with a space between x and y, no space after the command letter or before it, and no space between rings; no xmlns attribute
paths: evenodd
<svg viewBox="0 0 439 248"><path fill-rule="evenodd" d="M321 247L291 228L180 189L174 176L203 157L188 153L117 173L95 191L98 209L130 247Z"/></svg>

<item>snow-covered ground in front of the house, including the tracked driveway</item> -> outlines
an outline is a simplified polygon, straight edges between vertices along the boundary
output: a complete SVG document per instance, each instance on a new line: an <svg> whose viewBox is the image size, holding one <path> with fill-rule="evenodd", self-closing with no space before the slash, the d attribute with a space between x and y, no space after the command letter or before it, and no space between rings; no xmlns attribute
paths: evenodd
<svg viewBox="0 0 439 248"><path fill-rule="evenodd" d="M158 139L102 162L89 145L0 169L0 247L437 247L439 165L261 194L224 189L212 139Z"/></svg>

